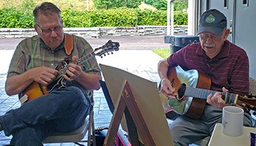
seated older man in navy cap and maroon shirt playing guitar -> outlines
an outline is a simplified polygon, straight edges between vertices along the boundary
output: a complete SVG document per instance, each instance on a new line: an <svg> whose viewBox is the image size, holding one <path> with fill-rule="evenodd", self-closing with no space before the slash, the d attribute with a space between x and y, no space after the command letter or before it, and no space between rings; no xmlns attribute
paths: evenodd
<svg viewBox="0 0 256 146"><path fill-rule="evenodd" d="M207 100L195 101L197 107L186 101L189 110L178 115L169 123L175 145L189 145L211 136L216 123L222 123L222 107L228 103L222 99L222 92L248 95L249 61L246 52L227 40L230 30L227 18L217 9L209 9L200 17L197 35L200 42L187 45L159 61L158 72L161 78L161 92L169 99L176 99L177 88L167 77L168 69L180 66L184 72L195 69L205 74L211 81L209 90L217 91L206 96ZM181 74L178 74L181 75ZM198 84L202 80L198 77ZM197 85L198 86L198 85ZM204 103L204 104L203 104ZM184 110L187 107L184 107ZM200 111L200 112L199 112ZM189 113L189 114L188 114ZM244 126L252 126L252 119L244 113Z"/></svg>

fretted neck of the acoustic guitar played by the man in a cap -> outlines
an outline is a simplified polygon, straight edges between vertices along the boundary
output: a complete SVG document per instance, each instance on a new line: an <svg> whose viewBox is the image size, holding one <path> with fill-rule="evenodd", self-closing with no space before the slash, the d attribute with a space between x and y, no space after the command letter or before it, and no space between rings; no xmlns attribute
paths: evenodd
<svg viewBox="0 0 256 146"><path fill-rule="evenodd" d="M207 89L201 89L201 88L192 88L187 87L186 91L184 93L184 96L191 96L195 97L197 99L207 99L207 96L209 94L217 93L217 91L211 91ZM227 103L234 103L236 104L238 99L238 94L233 93L222 93L222 99L225 99Z"/></svg>

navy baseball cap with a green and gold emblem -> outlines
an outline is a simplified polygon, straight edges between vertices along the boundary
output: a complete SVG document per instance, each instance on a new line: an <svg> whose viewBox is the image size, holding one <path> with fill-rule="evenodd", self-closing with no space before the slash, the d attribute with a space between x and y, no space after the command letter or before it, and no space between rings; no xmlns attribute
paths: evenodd
<svg viewBox="0 0 256 146"><path fill-rule="evenodd" d="M220 35L225 28L227 28L225 15L217 9L209 9L201 15L197 34L211 32L212 34Z"/></svg>

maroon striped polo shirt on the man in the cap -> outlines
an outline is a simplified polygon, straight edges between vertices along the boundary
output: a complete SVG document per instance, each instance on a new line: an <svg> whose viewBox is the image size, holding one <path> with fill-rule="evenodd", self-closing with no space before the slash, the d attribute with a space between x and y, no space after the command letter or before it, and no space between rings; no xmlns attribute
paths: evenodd
<svg viewBox="0 0 256 146"><path fill-rule="evenodd" d="M185 71L196 69L211 78L211 90L247 95L249 93L249 60L246 52L228 40L214 58L208 58L200 42L187 45L167 58L170 66ZM199 79L200 80L200 79Z"/></svg>

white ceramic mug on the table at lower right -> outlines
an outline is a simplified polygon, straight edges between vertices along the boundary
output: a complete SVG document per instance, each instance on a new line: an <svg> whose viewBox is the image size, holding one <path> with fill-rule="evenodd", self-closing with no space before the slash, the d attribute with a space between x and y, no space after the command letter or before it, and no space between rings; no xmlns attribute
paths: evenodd
<svg viewBox="0 0 256 146"><path fill-rule="evenodd" d="M244 110L240 107L222 108L222 132L232 137L243 134Z"/></svg>

